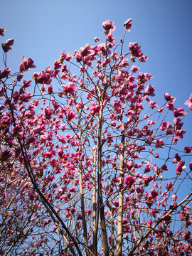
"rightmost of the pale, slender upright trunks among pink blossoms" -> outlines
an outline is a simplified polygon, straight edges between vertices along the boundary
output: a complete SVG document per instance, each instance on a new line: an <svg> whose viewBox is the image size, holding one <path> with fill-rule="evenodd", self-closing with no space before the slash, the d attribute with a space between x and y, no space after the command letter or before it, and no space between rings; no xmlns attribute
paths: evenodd
<svg viewBox="0 0 192 256"><path fill-rule="evenodd" d="M122 183L122 178L124 176L124 135L122 135L121 142L121 151L120 151L120 180L119 183ZM123 234L123 226L122 226L122 217L123 217L123 190L119 191L119 213L118 213L118 225L117 225L117 256L122 255L122 234Z"/></svg>

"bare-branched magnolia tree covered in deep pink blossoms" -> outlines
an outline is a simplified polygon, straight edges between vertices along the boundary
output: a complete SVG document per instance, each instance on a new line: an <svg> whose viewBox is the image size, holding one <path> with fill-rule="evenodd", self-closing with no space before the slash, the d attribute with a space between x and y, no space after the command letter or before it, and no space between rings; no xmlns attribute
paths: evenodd
<svg viewBox="0 0 192 256"><path fill-rule="evenodd" d="M14 73L14 39L2 43L1 255L192 253L192 146L176 150L192 97L184 110L166 92L159 107L147 56L124 43L132 18L116 46L114 23L102 26L105 43L63 51L34 82L33 60Z"/></svg>

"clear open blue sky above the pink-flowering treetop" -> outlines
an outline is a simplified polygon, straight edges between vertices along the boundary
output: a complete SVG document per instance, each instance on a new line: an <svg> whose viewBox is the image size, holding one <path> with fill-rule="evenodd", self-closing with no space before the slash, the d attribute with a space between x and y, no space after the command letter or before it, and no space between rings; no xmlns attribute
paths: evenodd
<svg viewBox="0 0 192 256"><path fill-rule="evenodd" d="M75 49L94 44L95 36L104 40L102 22L114 21L114 36L119 40L124 33L123 23L133 18L129 42L142 46L146 63L141 72L154 75L151 84L156 90L159 106L164 92L176 97L176 107L184 107L192 92L191 79L191 0L0 0L0 26L6 28L4 38L14 38L8 54L8 66L18 70L21 57L32 58L36 70L53 67L62 50L73 54ZM2 50L0 69L2 69ZM171 120L170 120L171 121ZM192 113L186 117L186 137L179 146L191 146ZM188 156L188 162L191 161ZM188 163L187 162L187 163Z"/></svg>

